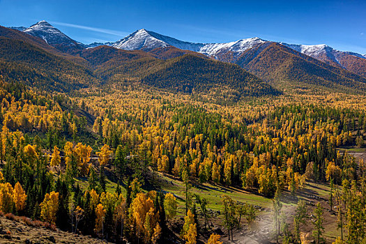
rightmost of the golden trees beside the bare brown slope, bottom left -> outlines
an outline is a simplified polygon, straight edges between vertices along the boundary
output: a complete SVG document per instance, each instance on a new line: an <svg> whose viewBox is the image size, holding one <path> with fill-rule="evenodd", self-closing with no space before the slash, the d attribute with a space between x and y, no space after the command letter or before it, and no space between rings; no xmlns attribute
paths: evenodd
<svg viewBox="0 0 366 244"><path fill-rule="evenodd" d="M51 224L56 222L56 213L59 210L59 192L49 192L40 204L40 218Z"/></svg>

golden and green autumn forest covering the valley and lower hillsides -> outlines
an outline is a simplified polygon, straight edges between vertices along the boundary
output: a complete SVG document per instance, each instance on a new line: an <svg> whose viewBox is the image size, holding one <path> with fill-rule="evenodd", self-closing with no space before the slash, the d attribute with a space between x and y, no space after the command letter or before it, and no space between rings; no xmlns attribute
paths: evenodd
<svg viewBox="0 0 366 244"><path fill-rule="evenodd" d="M365 243L366 78L256 48L235 64L0 26L0 239L36 243L11 220L70 243Z"/></svg>

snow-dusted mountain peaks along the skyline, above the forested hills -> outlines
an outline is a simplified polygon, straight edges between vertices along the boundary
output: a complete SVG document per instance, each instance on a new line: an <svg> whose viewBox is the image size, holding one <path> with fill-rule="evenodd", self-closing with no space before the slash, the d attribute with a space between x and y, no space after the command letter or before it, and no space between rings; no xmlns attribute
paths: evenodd
<svg viewBox="0 0 366 244"><path fill-rule="evenodd" d="M171 38L169 36L163 36L159 33L153 31L147 31L146 29L139 29L129 36L117 40L115 43L91 43L89 45L84 45L79 43L66 34L56 29L54 26L46 22L45 20L33 24L29 28L24 26L20 27L10 27L11 29L17 29L18 31L23 31L24 33L29 33L32 36L37 36L43 38L50 45L66 45L66 46L82 46L82 47L97 47L99 45L108 45L125 50L151 50L158 47L176 47L178 49L190 50L193 52L200 52L208 56L213 56L215 58L220 57L220 54L224 52L234 52L235 54L241 54L245 50L250 49L256 45L263 45L264 43L272 43L268 40L262 40L261 38L247 38L241 39L230 43L190 43L182 40L177 40L176 38ZM342 59L344 56L356 56L360 59L366 59L366 54L358 54L355 52L343 52L328 45L293 45L288 43L280 43L290 47L291 49L312 56L320 61L328 61L342 65Z"/></svg>

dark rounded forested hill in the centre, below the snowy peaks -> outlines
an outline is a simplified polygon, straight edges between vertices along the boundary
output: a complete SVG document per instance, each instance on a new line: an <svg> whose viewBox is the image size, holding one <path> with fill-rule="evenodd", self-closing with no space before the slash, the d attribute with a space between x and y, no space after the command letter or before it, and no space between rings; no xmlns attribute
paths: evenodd
<svg viewBox="0 0 366 244"><path fill-rule="evenodd" d="M170 59L160 70L143 77L142 82L168 91L186 93L224 90L229 96L236 96L236 100L241 96L280 94L238 66L192 55Z"/></svg>

